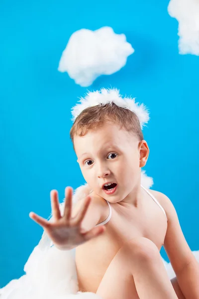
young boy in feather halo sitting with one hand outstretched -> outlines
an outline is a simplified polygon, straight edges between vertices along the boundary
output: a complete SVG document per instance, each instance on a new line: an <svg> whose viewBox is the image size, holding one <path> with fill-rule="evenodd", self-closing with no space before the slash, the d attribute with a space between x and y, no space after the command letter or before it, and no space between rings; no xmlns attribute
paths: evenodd
<svg viewBox="0 0 199 299"><path fill-rule="evenodd" d="M149 148L134 99L134 106L120 105L130 100L103 89L77 107L70 135L93 191L72 210L72 188L67 187L61 216L58 192L52 190L54 222L35 213L30 217L57 248L76 248L79 291L102 299L199 299L199 264L172 202L141 185ZM172 281L162 246L176 273Z"/></svg>

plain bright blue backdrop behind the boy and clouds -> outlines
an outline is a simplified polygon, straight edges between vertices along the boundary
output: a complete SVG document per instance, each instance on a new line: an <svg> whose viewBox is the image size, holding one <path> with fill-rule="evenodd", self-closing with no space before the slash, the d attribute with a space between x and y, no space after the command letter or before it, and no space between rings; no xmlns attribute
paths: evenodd
<svg viewBox="0 0 199 299"><path fill-rule="evenodd" d="M150 109L145 167L174 203L185 237L199 250L199 57L178 52L169 1L0 1L0 287L23 274L48 218L50 190L84 183L69 138L70 109L87 88L57 68L71 34L111 26L135 49L127 64L99 77ZM164 250L162 256L168 261Z"/></svg>

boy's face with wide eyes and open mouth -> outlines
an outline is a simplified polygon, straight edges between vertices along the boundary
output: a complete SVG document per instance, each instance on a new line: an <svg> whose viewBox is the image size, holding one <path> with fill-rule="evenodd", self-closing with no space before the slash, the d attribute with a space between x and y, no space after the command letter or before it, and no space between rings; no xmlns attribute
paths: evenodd
<svg viewBox="0 0 199 299"><path fill-rule="evenodd" d="M74 137L78 162L86 182L109 202L123 200L140 184L141 144L132 133L114 124L105 124L83 137ZM103 185L110 182L117 185L107 191Z"/></svg>

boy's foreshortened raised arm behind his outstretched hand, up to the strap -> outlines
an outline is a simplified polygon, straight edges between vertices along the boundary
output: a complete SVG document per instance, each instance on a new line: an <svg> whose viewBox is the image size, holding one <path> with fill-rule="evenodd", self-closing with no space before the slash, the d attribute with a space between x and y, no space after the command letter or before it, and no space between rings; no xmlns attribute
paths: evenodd
<svg viewBox="0 0 199 299"><path fill-rule="evenodd" d="M90 194L91 197L91 203L88 207L88 210L86 212L86 215L82 221L81 227L84 229L84 231L90 231L92 228L94 228L98 223L102 222L104 219L105 212L108 209L108 205L106 201L100 197L99 195L92 192ZM79 200L76 205L72 209L72 217L75 217L77 213L80 211L83 202L85 199Z"/></svg>

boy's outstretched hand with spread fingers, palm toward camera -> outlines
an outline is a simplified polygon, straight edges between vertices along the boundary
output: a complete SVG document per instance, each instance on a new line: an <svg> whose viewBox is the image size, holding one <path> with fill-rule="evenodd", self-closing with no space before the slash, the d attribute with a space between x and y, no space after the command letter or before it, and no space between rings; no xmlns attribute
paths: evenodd
<svg viewBox="0 0 199 299"><path fill-rule="evenodd" d="M73 189L71 187L66 187L64 214L61 216L58 192L57 190L51 190L50 198L54 222L49 222L33 212L29 213L30 218L43 227L53 244L60 250L73 249L80 244L99 236L105 230L104 226L99 226L91 229L89 232L83 233L81 223L90 205L91 196L88 195L84 199L82 208L73 218L71 217L72 196Z"/></svg>

